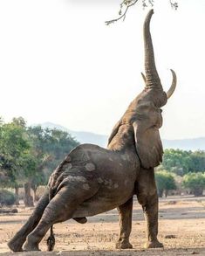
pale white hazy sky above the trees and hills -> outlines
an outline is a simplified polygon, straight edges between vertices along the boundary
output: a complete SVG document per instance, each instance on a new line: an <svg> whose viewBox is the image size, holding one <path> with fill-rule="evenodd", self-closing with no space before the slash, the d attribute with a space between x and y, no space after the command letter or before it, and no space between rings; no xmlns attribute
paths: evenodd
<svg viewBox="0 0 205 256"><path fill-rule="evenodd" d="M140 1L140 0L139 0ZM151 32L164 89L161 137L205 136L205 1L155 0ZM28 124L51 121L72 130L109 134L140 93L144 71L140 3L125 22L120 0L1 0L0 115Z"/></svg>

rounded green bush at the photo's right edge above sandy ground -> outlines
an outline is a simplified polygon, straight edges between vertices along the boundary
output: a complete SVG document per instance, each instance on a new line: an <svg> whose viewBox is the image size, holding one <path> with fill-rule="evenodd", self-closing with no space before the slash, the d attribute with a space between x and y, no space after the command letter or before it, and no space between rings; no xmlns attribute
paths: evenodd
<svg viewBox="0 0 205 256"><path fill-rule="evenodd" d="M205 172L189 172L183 176L182 185L189 189L195 197L202 196L203 190L205 190Z"/></svg>

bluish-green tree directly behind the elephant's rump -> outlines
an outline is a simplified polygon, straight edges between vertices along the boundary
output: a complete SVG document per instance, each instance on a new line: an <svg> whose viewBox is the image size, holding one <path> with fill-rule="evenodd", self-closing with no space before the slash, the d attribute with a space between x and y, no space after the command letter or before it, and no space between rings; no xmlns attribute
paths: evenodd
<svg viewBox="0 0 205 256"><path fill-rule="evenodd" d="M79 142L65 131L41 126L28 128L28 134L32 145L32 156L36 159L36 170L31 176L31 188L37 199L38 186L47 183L52 170Z"/></svg>

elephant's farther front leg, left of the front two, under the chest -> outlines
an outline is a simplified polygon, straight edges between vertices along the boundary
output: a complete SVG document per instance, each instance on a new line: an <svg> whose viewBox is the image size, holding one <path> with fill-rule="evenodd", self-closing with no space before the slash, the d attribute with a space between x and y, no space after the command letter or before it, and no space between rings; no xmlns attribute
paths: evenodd
<svg viewBox="0 0 205 256"><path fill-rule="evenodd" d="M118 207L120 215L120 237L116 244L117 249L129 249L133 246L129 242L129 236L132 229L133 197L125 204Z"/></svg>

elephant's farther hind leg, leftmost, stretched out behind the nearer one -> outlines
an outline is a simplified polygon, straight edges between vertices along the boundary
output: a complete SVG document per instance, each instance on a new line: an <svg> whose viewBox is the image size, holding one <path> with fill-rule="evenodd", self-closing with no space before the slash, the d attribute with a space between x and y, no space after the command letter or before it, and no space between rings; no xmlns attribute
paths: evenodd
<svg viewBox="0 0 205 256"><path fill-rule="evenodd" d="M15 236L10 239L8 246L10 250L13 252L22 252L22 246L24 245L24 241L27 235L32 232L32 230L38 225L40 218L43 215L44 208L49 203L49 195L48 191L44 193L44 196L40 198L38 204L31 214L31 217L27 220L27 222L23 225L23 227L15 234Z"/></svg>

